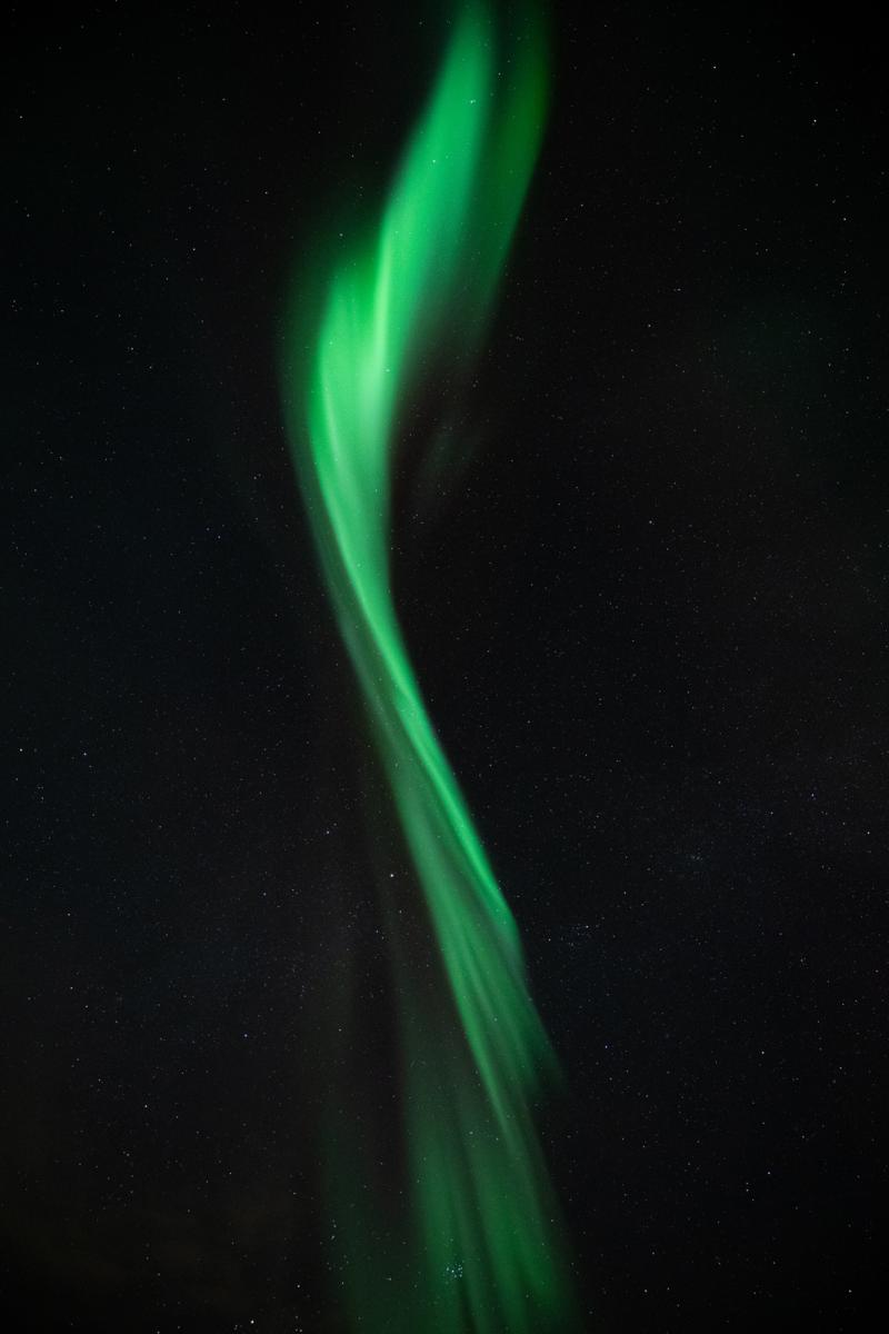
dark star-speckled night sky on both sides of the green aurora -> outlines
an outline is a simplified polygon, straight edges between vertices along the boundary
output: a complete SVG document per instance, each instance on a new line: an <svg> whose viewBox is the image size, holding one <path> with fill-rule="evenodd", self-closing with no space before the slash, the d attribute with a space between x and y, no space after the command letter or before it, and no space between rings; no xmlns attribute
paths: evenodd
<svg viewBox="0 0 889 1334"><path fill-rule="evenodd" d="M444 24L13 9L0 1303L341 1334L311 1015L347 956L373 1014L385 954L275 366L288 268L380 197ZM541 1127L590 1331L852 1334L884 1302L864 15L553 8L473 454L435 504L401 488L408 640L566 1074Z"/></svg>

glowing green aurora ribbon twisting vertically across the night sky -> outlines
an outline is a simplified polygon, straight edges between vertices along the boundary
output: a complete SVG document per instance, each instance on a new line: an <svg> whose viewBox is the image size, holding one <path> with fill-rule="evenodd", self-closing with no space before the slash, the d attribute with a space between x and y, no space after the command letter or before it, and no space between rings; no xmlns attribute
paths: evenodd
<svg viewBox="0 0 889 1334"><path fill-rule="evenodd" d="M332 1110L328 1130L328 1207L351 1327L399 1334L576 1323L532 1118L554 1061L514 920L424 708L389 568L399 414L435 348L457 346L462 358L477 344L541 137L540 23L522 12L498 61L494 36L482 5L462 9L383 216L335 264L308 338L296 285L283 366L321 571L424 906L408 927L381 878L404 1190L375 1182L369 1163L361 1185L348 1117ZM377 1198L387 1194L395 1205Z"/></svg>

